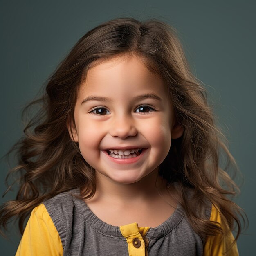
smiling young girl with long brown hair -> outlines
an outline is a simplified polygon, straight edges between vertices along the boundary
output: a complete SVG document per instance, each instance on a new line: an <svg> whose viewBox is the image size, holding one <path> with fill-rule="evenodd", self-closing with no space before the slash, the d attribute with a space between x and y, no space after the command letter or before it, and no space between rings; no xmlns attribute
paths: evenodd
<svg viewBox="0 0 256 256"><path fill-rule="evenodd" d="M16 147L17 198L0 210L2 227L19 218L16 255L238 255L219 156L234 159L170 26L92 29L38 102Z"/></svg>

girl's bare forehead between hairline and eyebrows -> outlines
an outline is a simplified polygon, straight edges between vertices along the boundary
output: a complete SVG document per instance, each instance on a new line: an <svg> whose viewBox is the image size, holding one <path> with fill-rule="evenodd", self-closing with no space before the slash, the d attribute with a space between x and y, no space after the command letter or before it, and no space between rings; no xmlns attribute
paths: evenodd
<svg viewBox="0 0 256 256"><path fill-rule="evenodd" d="M166 96L164 81L148 70L141 58L128 54L92 63L80 88L82 94L112 94L122 97L145 92Z"/></svg>

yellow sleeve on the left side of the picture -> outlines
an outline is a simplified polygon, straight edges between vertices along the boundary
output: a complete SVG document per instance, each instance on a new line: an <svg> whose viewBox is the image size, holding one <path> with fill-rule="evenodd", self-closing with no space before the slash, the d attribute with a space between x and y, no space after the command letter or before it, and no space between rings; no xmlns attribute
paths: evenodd
<svg viewBox="0 0 256 256"><path fill-rule="evenodd" d="M58 231L44 204L31 212L16 256L61 256L63 247Z"/></svg>

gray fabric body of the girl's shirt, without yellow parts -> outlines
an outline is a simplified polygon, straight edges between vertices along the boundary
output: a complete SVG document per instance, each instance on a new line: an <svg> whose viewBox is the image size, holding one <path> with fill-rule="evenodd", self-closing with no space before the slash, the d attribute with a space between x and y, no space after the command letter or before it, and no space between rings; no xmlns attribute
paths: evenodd
<svg viewBox="0 0 256 256"><path fill-rule="evenodd" d="M120 227L100 220L72 193L79 194L79 190L58 194L44 202L61 238L63 255L129 256L128 243ZM180 204L164 223L149 228L144 238L149 242L146 248L149 256L203 254L204 241L189 225Z"/></svg>

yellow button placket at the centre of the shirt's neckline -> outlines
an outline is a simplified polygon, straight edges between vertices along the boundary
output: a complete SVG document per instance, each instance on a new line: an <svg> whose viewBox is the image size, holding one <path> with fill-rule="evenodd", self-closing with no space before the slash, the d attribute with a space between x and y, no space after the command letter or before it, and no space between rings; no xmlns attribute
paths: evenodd
<svg viewBox="0 0 256 256"><path fill-rule="evenodd" d="M148 253L145 250L145 243L144 240L142 238L142 235L140 233L140 231L143 234L146 234L146 232L148 231L149 227L138 227L138 223L131 223L128 225L124 225L124 226L120 226L120 230L122 235L124 236L124 238L126 238L126 242L128 243L128 252L129 252L129 256L147 256ZM139 248L136 248L133 245L133 240L137 238L139 239L141 245L139 246Z"/></svg>

